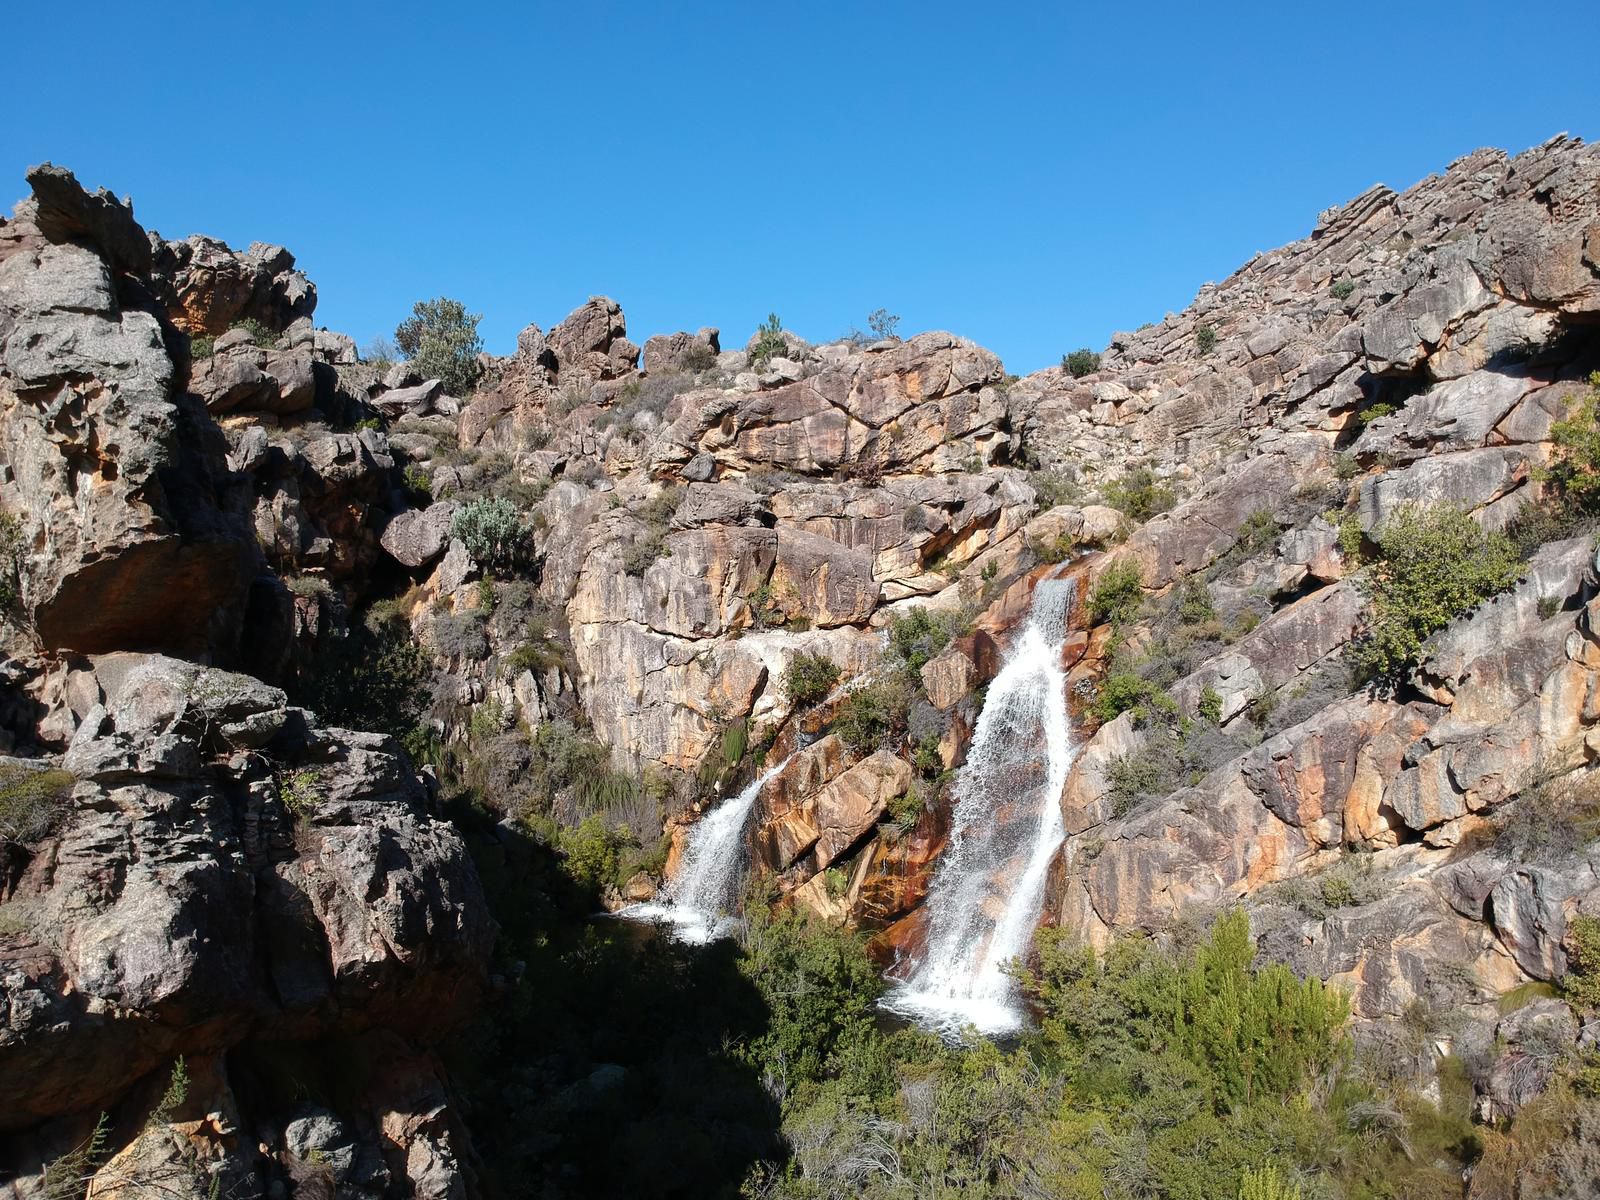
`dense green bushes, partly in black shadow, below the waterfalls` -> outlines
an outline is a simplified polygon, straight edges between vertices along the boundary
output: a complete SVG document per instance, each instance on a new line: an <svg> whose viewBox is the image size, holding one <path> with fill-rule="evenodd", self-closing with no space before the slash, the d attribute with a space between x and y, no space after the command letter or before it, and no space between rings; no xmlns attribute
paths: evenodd
<svg viewBox="0 0 1600 1200"><path fill-rule="evenodd" d="M475 842L512 982L450 1054L490 1195L1398 1200L1454 1194L1482 1150L1450 1059L1437 1102L1394 1082L1238 912L1104 952L1046 930L1038 1029L947 1045L886 1030L861 936L768 891L738 939L640 946L498 838Z"/></svg>

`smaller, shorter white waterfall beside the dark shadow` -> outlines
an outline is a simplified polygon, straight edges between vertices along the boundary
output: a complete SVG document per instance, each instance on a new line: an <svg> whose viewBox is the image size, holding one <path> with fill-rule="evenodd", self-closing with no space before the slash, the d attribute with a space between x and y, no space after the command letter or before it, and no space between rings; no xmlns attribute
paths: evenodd
<svg viewBox="0 0 1600 1200"><path fill-rule="evenodd" d="M688 832L678 874L654 904L629 904L618 912L627 920L670 925L680 941L702 944L728 933L733 910L739 904L744 882L744 832L762 786L778 774L778 766L763 771L742 792L701 818Z"/></svg>

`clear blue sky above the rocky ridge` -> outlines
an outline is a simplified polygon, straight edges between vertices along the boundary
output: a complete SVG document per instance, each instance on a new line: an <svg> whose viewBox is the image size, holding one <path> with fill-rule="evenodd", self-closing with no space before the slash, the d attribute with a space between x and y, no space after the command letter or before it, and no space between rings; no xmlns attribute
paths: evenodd
<svg viewBox="0 0 1600 1200"><path fill-rule="evenodd" d="M280 242L318 323L491 350L886 306L1030 371L1328 205L1600 138L1600 5L75 3L6 16L0 197L51 158L166 237ZM1571 51L1571 53L1568 53Z"/></svg>

